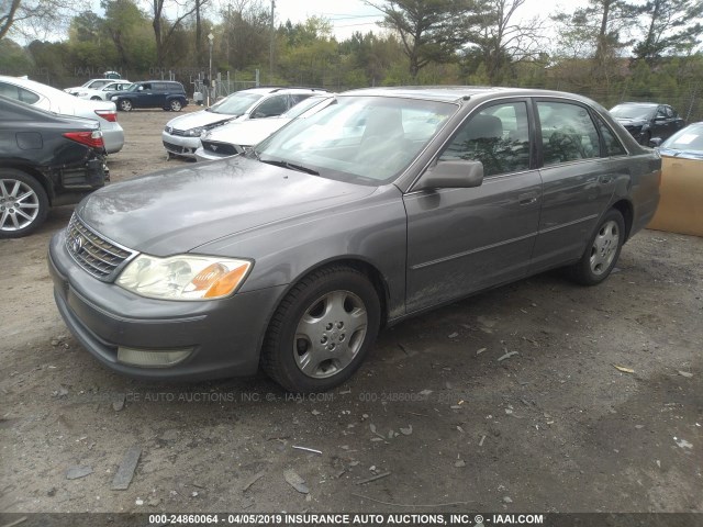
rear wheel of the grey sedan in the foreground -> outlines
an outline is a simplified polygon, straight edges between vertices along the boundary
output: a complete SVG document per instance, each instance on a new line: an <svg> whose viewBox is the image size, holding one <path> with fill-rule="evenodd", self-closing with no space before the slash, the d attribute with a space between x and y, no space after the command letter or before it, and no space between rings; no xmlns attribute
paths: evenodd
<svg viewBox="0 0 703 527"><path fill-rule="evenodd" d="M616 209L605 213L581 259L571 267L571 277L582 285L596 285L605 280L620 257L625 243L625 221Z"/></svg>

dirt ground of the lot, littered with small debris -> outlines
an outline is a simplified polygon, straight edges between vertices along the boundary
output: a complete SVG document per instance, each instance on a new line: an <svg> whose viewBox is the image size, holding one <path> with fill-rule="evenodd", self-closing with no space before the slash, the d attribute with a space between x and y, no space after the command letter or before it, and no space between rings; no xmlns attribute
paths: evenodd
<svg viewBox="0 0 703 527"><path fill-rule="evenodd" d="M172 116L120 114L113 182L185 162ZM550 272L406 321L350 382L291 397L101 367L46 268L70 213L0 242L2 512L703 512L703 238L646 231L600 287Z"/></svg>

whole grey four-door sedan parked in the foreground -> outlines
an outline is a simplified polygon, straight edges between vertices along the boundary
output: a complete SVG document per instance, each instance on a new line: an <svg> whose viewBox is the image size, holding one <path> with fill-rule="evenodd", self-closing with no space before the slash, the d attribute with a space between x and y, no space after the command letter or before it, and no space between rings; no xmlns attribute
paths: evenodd
<svg viewBox="0 0 703 527"><path fill-rule="evenodd" d="M660 166L578 96L349 91L245 155L83 200L51 243L55 299L122 373L260 365L327 390L408 316L556 267L605 280L657 209Z"/></svg>

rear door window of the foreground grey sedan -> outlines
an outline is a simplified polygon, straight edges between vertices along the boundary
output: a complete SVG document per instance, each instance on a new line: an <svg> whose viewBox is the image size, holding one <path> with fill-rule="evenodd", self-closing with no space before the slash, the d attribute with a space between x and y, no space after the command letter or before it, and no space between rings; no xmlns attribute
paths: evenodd
<svg viewBox="0 0 703 527"><path fill-rule="evenodd" d="M537 102L544 166L600 156L599 135L588 110L570 102Z"/></svg>

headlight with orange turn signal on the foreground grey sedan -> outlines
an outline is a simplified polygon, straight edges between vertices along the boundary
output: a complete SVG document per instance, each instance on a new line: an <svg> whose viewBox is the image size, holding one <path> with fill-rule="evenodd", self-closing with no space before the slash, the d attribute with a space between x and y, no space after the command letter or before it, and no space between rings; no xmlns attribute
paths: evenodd
<svg viewBox="0 0 703 527"><path fill-rule="evenodd" d="M248 260L210 256L140 255L122 271L116 284L149 299L221 299L237 290L252 265Z"/></svg>

